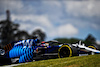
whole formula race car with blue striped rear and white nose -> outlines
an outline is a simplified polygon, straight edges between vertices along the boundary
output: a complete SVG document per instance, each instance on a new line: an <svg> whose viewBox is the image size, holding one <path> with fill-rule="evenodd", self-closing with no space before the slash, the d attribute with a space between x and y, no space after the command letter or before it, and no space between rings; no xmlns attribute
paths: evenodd
<svg viewBox="0 0 100 67"><path fill-rule="evenodd" d="M81 41L76 44L60 43L55 40L39 43L38 39L22 40L13 43L13 46L12 44L8 44L4 49L6 57L19 58L19 63L100 53L100 46L81 45Z"/></svg>

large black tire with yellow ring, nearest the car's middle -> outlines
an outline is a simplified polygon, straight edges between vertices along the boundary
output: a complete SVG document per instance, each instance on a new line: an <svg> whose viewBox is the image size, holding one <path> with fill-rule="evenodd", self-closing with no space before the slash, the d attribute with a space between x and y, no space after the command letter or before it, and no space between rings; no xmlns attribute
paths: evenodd
<svg viewBox="0 0 100 67"><path fill-rule="evenodd" d="M58 57L72 57L72 56L78 56L78 48L72 46L71 44L62 45L58 49Z"/></svg>

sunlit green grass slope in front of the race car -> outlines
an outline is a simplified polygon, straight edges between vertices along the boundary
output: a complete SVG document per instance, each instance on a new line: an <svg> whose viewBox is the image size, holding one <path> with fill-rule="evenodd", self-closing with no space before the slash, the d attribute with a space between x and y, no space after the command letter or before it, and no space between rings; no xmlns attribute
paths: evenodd
<svg viewBox="0 0 100 67"><path fill-rule="evenodd" d="M100 54L28 62L17 67L100 67Z"/></svg>

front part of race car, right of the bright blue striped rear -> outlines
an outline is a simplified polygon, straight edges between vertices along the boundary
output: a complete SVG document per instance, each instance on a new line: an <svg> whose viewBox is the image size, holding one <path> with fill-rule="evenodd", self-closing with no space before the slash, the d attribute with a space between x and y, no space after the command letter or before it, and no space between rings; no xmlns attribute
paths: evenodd
<svg viewBox="0 0 100 67"><path fill-rule="evenodd" d="M53 40L48 42L42 42L41 44L44 45L42 45L42 47L41 46L37 47L36 49L37 54L41 55L42 58L44 57L47 59L90 55L90 54L94 55L100 53L99 45L85 46L85 44L81 45L81 41L79 41L79 43L76 44L68 44L68 43L60 43L58 41Z"/></svg>

